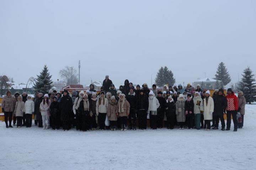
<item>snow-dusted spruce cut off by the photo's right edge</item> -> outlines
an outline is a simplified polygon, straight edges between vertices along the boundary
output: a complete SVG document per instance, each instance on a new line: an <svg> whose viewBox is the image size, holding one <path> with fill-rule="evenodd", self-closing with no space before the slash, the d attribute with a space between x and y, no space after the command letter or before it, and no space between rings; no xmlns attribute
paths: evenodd
<svg viewBox="0 0 256 170"><path fill-rule="evenodd" d="M244 74L242 74L242 79L239 82L238 90L244 93L246 102L255 102L256 101L256 88L254 87L256 83L254 82L254 74L252 74L252 70L248 66L244 69Z"/></svg>

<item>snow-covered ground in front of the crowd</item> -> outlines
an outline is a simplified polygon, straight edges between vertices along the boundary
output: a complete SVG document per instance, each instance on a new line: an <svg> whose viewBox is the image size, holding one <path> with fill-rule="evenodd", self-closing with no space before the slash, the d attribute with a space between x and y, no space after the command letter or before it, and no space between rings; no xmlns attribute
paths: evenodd
<svg viewBox="0 0 256 170"><path fill-rule="evenodd" d="M256 105L244 128L220 130L52 131L5 128L0 169L256 169Z"/></svg>

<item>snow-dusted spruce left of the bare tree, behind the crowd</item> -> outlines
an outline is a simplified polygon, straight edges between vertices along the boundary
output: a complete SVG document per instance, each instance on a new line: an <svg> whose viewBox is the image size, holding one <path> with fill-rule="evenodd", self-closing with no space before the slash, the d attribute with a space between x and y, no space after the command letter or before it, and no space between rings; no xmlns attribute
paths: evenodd
<svg viewBox="0 0 256 170"><path fill-rule="evenodd" d="M41 92L43 94L48 94L49 90L52 88L52 83L53 83L51 78L52 78L52 75L48 73L48 67L44 65L44 68L42 72L40 72L40 75L37 75L34 91Z"/></svg>

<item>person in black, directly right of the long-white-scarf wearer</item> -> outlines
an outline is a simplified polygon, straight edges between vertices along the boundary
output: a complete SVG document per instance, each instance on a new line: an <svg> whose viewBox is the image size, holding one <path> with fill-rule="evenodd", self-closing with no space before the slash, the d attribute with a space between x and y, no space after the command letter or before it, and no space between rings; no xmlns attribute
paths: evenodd
<svg viewBox="0 0 256 170"><path fill-rule="evenodd" d="M158 128L162 128L163 120L164 120L164 114L166 109L166 99L162 97L162 92L158 92L158 96L156 97L159 101L159 108L157 110L157 119L158 119Z"/></svg>

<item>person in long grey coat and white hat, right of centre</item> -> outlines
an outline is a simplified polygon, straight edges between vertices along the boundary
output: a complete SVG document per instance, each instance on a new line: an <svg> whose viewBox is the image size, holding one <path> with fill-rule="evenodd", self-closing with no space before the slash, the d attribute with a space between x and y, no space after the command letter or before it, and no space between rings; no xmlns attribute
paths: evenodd
<svg viewBox="0 0 256 170"><path fill-rule="evenodd" d="M186 121L186 115L185 115L185 100L182 94L180 94L176 102L176 118L177 118L178 124L180 125L179 129L184 129L183 125Z"/></svg>

